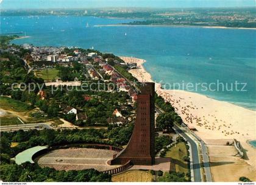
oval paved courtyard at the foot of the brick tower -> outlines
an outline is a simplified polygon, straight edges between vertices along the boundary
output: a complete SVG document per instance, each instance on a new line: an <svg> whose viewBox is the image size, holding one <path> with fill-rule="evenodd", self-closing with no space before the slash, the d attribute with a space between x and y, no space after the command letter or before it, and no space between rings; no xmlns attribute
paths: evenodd
<svg viewBox="0 0 256 185"><path fill-rule="evenodd" d="M114 169L119 166L109 166L107 161L112 159L115 151L94 148L65 148L53 150L35 161L41 167L52 167L56 170L84 170L99 171Z"/></svg>

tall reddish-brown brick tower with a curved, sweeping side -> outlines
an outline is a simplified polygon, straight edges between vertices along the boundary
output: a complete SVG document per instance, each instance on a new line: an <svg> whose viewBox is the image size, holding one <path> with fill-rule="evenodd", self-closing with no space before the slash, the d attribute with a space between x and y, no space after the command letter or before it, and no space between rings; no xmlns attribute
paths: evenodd
<svg viewBox="0 0 256 185"><path fill-rule="evenodd" d="M152 165L155 162L155 83L144 83L137 99L137 117L127 147L108 164Z"/></svg>

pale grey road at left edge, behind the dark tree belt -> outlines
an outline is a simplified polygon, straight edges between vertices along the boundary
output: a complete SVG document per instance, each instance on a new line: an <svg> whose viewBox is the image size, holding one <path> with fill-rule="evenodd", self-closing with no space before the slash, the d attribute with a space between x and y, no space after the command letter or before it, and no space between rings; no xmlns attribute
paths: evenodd
<svg viewBox="0 0 256 185"><path fill-rule="evenodd" d="M18 131L18 130L31 130L31 129L52 129L52 127L48 124L39 123L39 124L21 124L21 125L8 125L1 126L0 131Z"/></svg>

